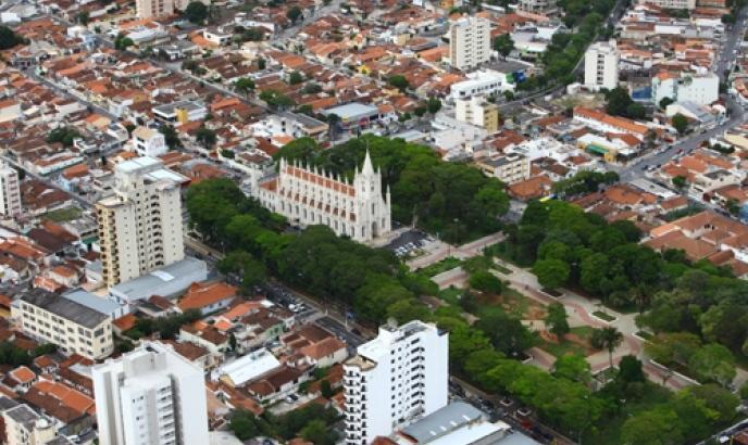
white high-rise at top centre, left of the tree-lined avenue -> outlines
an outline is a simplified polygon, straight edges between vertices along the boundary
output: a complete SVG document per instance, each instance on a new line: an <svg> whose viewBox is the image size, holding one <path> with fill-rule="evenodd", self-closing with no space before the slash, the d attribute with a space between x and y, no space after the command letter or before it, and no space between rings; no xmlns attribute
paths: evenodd
<svg viewBox="0 0 748 445"><path fill-rule="evenodd" d="M449 29L449 60L458 69L471 69L490 59L490 24L483 17L464 17Z"/></svg>

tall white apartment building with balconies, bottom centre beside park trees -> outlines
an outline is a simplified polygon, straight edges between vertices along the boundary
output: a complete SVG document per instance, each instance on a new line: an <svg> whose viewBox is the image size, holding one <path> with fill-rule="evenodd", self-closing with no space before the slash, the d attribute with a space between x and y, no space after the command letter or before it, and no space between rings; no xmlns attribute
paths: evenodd
<svg viewBox="0 0 748 445"><path fill-rule="evenodd" d="M379 328L379 334L344 364L346 444L376 436L442 408L448 403L449 335L411 321Z"/></svg>

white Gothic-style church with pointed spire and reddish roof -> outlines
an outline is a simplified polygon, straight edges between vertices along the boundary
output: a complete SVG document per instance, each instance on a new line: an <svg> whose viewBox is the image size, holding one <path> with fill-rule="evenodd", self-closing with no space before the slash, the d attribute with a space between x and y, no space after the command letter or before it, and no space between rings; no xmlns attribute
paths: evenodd
<svg viewBox="0 0 748 445"><path fill-rule="evenodd" d="M391 230L389 187L366 152L352 182L280 160L279 173L257 188L262 205L297 226L325 225L338 236L371 241Z"/></svg>

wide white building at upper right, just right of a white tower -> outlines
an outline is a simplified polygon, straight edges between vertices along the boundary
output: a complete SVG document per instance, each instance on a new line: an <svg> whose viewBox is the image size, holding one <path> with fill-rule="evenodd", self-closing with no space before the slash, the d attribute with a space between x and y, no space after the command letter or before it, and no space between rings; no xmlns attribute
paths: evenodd
<svg viewBox="0 0 748 445"><path fill-rule="evenodd" d="M652 77L652 101L659 105L664 98L709 105L720 98L720 77L714 73L660 73Z"/></svg>

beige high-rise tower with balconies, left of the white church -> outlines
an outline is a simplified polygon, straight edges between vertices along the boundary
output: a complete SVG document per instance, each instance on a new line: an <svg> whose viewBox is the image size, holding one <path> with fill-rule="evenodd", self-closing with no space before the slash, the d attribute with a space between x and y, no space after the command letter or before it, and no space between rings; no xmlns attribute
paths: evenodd
<svg viewBox="0 0 748 445"><path fill-rule="evenodd" d="M154 157L114 167L114 194L96 203L107 285L185 257L179 195L184 179Z"/></svg>

